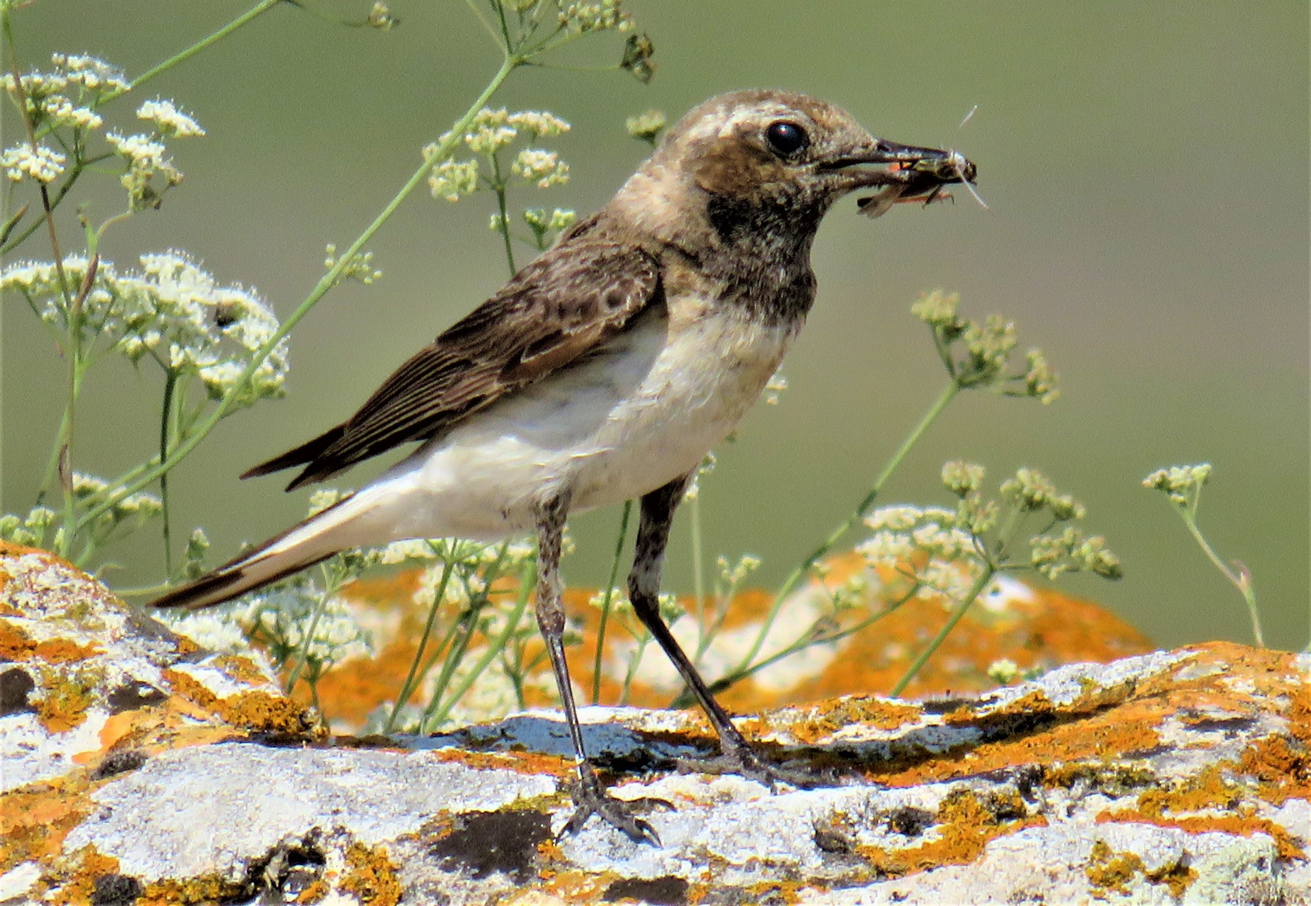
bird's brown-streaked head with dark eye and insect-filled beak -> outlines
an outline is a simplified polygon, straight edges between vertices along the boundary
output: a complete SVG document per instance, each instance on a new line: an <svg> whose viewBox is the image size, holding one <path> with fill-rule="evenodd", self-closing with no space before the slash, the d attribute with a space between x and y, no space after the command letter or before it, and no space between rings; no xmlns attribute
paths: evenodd
<svg viewBox="0 0 1311 906"><path fill-rule="evenodd" d="M825 211L850 191L873 187L906 201L973 182L974 173L956 152L877 139L826 101L739 90L690 110L620 199L632 195L628 207L646 206L650 219L666 224L704 211L724 237L772 227L809 240Z"/></svg>

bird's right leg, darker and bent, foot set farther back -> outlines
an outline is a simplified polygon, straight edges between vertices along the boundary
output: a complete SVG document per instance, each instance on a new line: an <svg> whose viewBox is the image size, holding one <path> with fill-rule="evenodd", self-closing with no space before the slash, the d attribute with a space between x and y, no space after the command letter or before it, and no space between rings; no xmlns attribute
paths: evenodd
<svg viewBox="0 0 1311 906"><path fill-rule="evenodd" d="M665 562L665 547L669 543L669 530L674 522L674 509L683 500L683 492L687 489L690 479L691 475L686 475L642 497L641 522L633 551L633 570L628 574L628 599L642 625L656 637L659 646L665 649L665 654L678 667L683 682L692 690L692 695L696 696L711 721L711 726L720 737L720 757L699 762L692 767L712 772L741 774L771 788L780 780L794 787L814 785L818 778L780 770L768 764L755 753L746 737L733 726L728 712L714 700L705 680L696 671L696 666L659 615L659 581Z"/></svg>

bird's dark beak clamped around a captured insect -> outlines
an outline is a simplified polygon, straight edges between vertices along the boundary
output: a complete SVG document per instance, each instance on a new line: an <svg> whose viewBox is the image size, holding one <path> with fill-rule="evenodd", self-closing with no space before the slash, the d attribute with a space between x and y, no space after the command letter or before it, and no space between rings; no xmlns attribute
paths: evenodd
<svg viewBox="0 0 1311 906"><path fill-rule="evenodd" d="M840 176L843 191L880 186L873 197L860 199L861 214L874 218L897 202L933 201L943 186L973 184L978 176L978 168L958 151L916 148L886 139L821 160L818 169Z"/></svg>

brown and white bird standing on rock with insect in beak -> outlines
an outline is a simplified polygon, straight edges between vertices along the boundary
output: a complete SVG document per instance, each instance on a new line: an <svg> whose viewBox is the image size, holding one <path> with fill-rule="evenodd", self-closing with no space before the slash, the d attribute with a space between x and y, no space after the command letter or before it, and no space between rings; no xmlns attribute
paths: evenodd
<svg viewBox="0 0 1311 906"><path fill-rule="evenodd" d="M299 468L294 490L417 448L153 606L218 604L357 547L535 532L535 615L577 766L564 830L597 816L658 844L589 760L564 650L566 517L638 500L633 611L709 719L726 770L775 785L784 774L733 725L661 619L674 511L805 323L815 296L810 249L834 202L873 190L881 214L975 176L956 151L877 139L806 94L747 89L704 101L604 207L401 364L355 414L241 477Z"/></svg>

